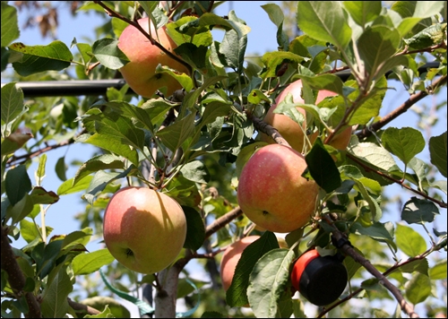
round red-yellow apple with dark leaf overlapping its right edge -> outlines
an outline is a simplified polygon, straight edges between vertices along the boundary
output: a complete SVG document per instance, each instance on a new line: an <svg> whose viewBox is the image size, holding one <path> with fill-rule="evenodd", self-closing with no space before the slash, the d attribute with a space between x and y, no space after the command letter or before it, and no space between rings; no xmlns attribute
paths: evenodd
<svg viewBox="0 0 448 319"><path fill-rule="evenodd" d="M277 233L301 228L310 220L319 187L302 177L305 157L280 144L255 151L241 171L237 201L249 220Z"/></svg>

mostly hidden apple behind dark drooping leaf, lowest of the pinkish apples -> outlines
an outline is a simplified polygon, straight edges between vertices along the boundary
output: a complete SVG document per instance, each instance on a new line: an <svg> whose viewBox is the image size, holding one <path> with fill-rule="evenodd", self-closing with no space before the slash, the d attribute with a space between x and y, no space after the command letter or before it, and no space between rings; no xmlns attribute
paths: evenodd
<svg viewBox="0 0 448 319"><path fill-rule="evenodd" d="M260 236L248 236L241 238L228 246L224 251L224 254L222 254L220 276L224 290L227 291L232 283L233 275L235 274L235 269L237 268L237 263L241 258L241 254L243 254L243 251L247 246L252 244L259 237Z"/></svg>

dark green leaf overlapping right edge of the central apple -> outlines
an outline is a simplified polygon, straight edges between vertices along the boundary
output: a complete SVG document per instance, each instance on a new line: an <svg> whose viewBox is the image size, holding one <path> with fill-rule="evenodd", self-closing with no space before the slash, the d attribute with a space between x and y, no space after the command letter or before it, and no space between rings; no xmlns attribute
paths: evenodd
<svg viewBox="0 0 448 319"><path fill-rule="evenodd" d="M332 156L323 147L323 142L320 138L314 142L313 148L306 154L305 160L314 181L325 192L332 193L340 186L342 180L340 179L339 170Z"/></svg>

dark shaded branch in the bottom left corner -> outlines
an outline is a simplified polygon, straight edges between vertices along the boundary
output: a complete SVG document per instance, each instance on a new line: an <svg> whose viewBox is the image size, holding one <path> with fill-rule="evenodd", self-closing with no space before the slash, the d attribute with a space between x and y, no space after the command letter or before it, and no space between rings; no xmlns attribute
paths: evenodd
<svg viewBox="0 0 448 319"><path fill-rule="evenodd" d="M23 295L25 296L26 303L28 305L28 313L24 314L26 318L41 318L40 305L39 302L32 292L25 292L23 288L25 287L26 279L23 275L21 267L15 260L15 254L13 248L9 244L9 239L7 236L7 230L2 226L1 234L1 264L4 272L8 274L8 282L13 289L13 293L17 299L20 299Z"/></svg>

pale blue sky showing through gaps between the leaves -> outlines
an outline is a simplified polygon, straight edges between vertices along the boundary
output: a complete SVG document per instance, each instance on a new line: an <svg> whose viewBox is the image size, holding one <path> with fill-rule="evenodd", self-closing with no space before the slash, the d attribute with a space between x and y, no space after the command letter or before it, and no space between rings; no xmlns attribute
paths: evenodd
<svg viewBox="0 0 448 319"><path fill-rule="evenodd" d="M245 20L247 25L252 28L251 32L248 34L248 43L246 50L247 55L263 54L264 52L274 51L277 49L276 27L268 19L267 13L265 13L260 7L260 5L266 3L269 2L238 1L233 2L233 4L221 4L218 9L217 14L224 15L228 14L229 8L233 8L233 10L235 10L235 12L237 13L237 16ZM73 18L69 13L67 13L67 10L65 9L60 10L59 13L60 16L59 27L57 29L57 39L62 40L67 46L70 46L73 38L76 38L78 42L84 42L89 39L89 42L92 43L92 39L95 39L94 28L102 22L102 19L99 18L98 14L80 13L76 18ZM42 39L37 28L23 30L22 25L24 24L24 19L24 14L19 13L21 37L16 41L21 41L27 45L43 45L51 41L50 39ZM215 34L217 40L220 41L222 39L222 34ZM396 108L402 102L409 98L409 93L403 90L400 82L390 81L389 84L394 88L394 90L390 90L386 94L386 98L383 101L383 105L385 107L381 111L382 116L391 112L392 109ZM422 106L424 104L432 105L433 103L439 104L443 100L446 103L446 86L444 87L444 90L437 96L429 96L425 99L422 99L420 102L418 102L418 106ZM433 136L442 134L446 130L446 108L444 108L442 115L443 116L439 118L439 123L432 127L431 133ZM393 121L391 125L394 127L416 127L417 120L418 117L412 111L408 111L403 116L400 116L398 120ZM54 167L56 165L57 159L65 156L65 160L67 163L71 162L72 160L85 161L90 159L92 151L93 149L91 147L86 147L86 145L72 145L69 148L50 151L47 154L47 177L44 179L43 186L47 190L56 191L57 187L61 184L61 181L56 177L56 174L54 173ZM427 146L425 151L418 154L418 158L429 162ZM75 171L75 168L69 168L66 176L68 178L73 177ZM30 173L30 177L32 178L31 174L32 173ZM443 177L441 177L440 179L442 178ZM415 195L409 193L408 191L405 191L398 185L387 186L386 191L390 197L392 197L393 195L400 195L403 203L408 201L411 196ZM443 196L444 200L446 201L446 195ZM82 202L81 194L62 196L59 203L56 203L47 211L47 225L55 228L53 235L68 234L74 230L77 230L79 228L79 222L74 220L73 216L77 212L83 211L84 209L85 203ZM401 208L393 205L389 207L389 211L391 212L384 216L386 220L400 220ZM37 220L39 221L39 217ZM438 225L438 230L445 231L446 223L446 210L441 210L441 214L440 216L436 217L434 224ZM427 238L426 234L422 232L422 229L420 227L414 226L413 228L422 233L422 235L426 238L429 246L429 239ZM93 240L88 248L90 250L99 249L99 241L101 239L102 238L96 238L96 240ZM22 246L22 244L19 242L14 246L19 247ZM441 255L446 258L445 252L441 253Z"/></svg>

